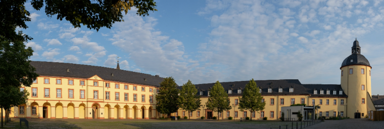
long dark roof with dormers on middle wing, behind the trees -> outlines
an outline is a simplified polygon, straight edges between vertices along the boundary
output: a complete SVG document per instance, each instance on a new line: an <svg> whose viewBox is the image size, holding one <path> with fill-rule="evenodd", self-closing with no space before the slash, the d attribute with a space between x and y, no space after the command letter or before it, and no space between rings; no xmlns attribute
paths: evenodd
<svg viewBox="0 0 384 129"><path fill-rule="evenodd" d="M286 79L286 80L255 80L258 87L262 88L262 95L308 95L309 93L306 91L304 86L300 83L298 79ZM249 81L234 81L234 82L220 82L221 85L224 87L224 90L228 93L228 89L232 88L234 89L229 96L236 96L236 95L242 95L242 93L237 93L237 89L244 89L246 84L249 83ZM233 86L234 84L234 86ZM272 85L271 85L272 84ZM206 83L206 84L195 84L195 86L198 88L198 91L203 91L203 95L201 96L207 96L208 95L208 89L215 85L215 83ZM289 92L290 87L294 87L294 92ZM268 93L268 87L272 88L272 93ZM281 87L283 89L283 92L278 92L278 88ZM178 87L181 89L181 87ZM199 93L198 93L199 94Z"/></svg>

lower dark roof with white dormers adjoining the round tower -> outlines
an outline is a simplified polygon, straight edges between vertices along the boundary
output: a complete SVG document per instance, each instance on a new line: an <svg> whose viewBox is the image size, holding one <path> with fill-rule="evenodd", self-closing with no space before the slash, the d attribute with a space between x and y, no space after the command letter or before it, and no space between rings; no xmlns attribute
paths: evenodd
<svg viewBox="0 0 384 129"><path fill-rule="evenodd" d="M303 84L303 86L306 88L307 92L311 94L311 97L348 97L347 94L339 94L340 90L342 89L341 85L335 85L335 84ZM331 89L329 94L326 94L327 90L323 90L324 94L320 94L319 89ZM313 94L314 90L317 90L317 94ZM332 91L337 90L336 94L333 94Z"/></svg>

